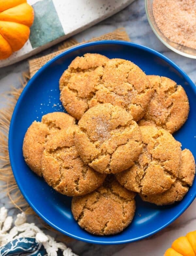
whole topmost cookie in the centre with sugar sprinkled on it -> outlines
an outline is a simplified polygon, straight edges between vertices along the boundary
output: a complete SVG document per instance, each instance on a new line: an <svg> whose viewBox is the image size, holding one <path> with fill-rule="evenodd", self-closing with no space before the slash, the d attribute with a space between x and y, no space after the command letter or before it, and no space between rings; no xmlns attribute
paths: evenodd
<svg viewBox="0 0 196 256"><path fill-rule="evenodd" d="M90 108L78 122L75 146L82 160L100 173L118 173L134 164L142 150L137 123L110 103Z"/></svg>

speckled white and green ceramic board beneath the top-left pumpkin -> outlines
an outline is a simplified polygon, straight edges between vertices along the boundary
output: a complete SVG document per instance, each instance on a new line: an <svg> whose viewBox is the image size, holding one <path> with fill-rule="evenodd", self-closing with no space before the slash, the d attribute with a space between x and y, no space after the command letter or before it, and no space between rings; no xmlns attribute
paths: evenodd
<svg viewBox="0 0 196 256"><path fill-rule="evenodd" d="M27 0L35 13L30 37L21 50L0 61L0 68L65 40L122 10L133 1Z"/></svg>

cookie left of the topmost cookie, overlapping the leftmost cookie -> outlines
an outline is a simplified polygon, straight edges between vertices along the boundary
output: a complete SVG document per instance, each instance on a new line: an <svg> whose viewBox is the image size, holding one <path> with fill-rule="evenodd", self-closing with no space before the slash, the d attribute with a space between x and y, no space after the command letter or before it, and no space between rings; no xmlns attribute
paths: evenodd
<svg viewBox="0 0 196 256"><path fill-rule="evenodd" d="M74 146L77 125L53 133L47 138L42 155L42 174L56 191L80 196L99 187L106 178L83 163Z"/></svg>

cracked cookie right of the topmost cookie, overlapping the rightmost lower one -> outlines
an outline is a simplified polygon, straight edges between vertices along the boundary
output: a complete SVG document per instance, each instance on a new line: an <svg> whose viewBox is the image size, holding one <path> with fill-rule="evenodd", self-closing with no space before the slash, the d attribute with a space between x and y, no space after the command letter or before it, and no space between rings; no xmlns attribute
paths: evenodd
<svg viewBox="0 0 196 256"><path fill-rule="evenodd" d="M181 166L181 144L164 129L140 127L143 150L136 163L121 173L117 180L125 188L145 195L168 190Z"/></svg>

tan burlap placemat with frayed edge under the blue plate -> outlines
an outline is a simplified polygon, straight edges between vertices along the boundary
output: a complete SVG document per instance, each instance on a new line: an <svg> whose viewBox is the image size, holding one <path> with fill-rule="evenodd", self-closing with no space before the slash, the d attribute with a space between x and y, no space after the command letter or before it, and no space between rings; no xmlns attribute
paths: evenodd
<svg viewBox="0 0 196 256"><path fill-rule="evenodd" d="M113 32L104 34L99 37L92 38L87 42L99 41L99 40L124 40L130 41L128 34L125 32L123 28L117 29ZM7 106L0 110L0 181L4 182L2 185L1 192L5 191L10 199L10 203L13 203L14 206L21 211L24 211L26 214L35 214L32 208L25 201L23 195L21 194L17 183L14 179L12 169L9 161L9 153L8 153L8 132L9 132L9 124L11 120L11 116L15 107L15 104L21 95L23 88L27 84L28 80L50 59L57 56L59 53L65 51L65 49L71 48L73 46L79 45L82 43L78 43L75 39L66 40L59 47L59 50L54 53L50 53L40 58L35 58L29 60L29 73L24 74L21 80L21 88L16 89L12 88L4 97L7 98ZM42 224L49 228L47 224ZM53 229L52 229L53 230ZM57 231L56 231L57 232ZM59 232L58 232L59 233ZM60 235L58 236L60 241L67 241L67 237Z"/></svg>

